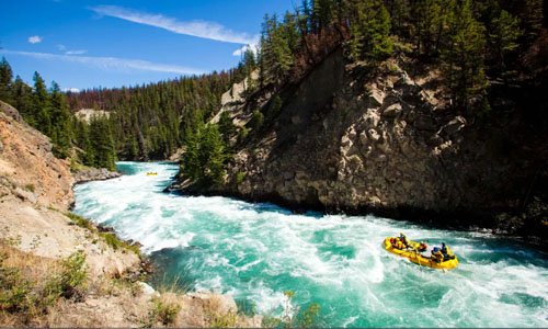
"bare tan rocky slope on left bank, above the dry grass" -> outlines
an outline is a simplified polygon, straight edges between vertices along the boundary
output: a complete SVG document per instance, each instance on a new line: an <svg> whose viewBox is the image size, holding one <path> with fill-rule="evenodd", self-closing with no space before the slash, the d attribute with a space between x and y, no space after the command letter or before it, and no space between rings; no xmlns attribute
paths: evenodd
<svg viewBox="0 0 548 329"><path fill-rule="evenodd" d="M5 103L0 103L0 239L45 258L83 251L93 275L119 275L140 264L137 254L98 242L65 215L75 200L69 161L57 159L49 138Z"/></svg>

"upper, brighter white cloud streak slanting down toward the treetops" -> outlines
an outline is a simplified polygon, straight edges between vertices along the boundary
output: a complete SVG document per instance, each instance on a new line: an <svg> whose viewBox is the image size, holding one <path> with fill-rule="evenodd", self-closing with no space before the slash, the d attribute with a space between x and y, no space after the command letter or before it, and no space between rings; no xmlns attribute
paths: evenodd
<svg viewBox="0 0 548 329"><path fill-rule="evenodd" d="M117 5L98 5L91 7L90 9L100 15L106 15L138 24L156 26L178 34L185 34L202 38L243 45L254 45L259 41L259 36L256 35L250 36L247 33L233 32L214 22L180 22L175 19L167 18L161 14L139 12Z"/></svg>

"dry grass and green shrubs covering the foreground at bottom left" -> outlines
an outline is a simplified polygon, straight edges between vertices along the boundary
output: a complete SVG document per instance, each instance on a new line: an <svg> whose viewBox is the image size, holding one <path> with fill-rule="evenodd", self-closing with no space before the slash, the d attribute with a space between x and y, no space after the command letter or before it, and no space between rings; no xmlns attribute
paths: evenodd
<svg viewBox="0 0 548 329"><path fill-rule="evenodd" d="M65 260L47 259L0 240L0 327L226 328L261 324L238 315L230 298L187 295L176 281L147 295L135 281L89 277L78 253Z"/></svg>

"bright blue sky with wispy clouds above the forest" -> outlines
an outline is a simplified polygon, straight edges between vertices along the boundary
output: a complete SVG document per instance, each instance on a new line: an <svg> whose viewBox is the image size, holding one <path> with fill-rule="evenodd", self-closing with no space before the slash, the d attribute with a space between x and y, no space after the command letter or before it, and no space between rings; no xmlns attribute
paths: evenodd
<svg viewBox="0 0 548 329"><path fill-rule="evenodd" d="M296 0L1 0L0 56L32 82L122 87L235 67Z"/></svg>

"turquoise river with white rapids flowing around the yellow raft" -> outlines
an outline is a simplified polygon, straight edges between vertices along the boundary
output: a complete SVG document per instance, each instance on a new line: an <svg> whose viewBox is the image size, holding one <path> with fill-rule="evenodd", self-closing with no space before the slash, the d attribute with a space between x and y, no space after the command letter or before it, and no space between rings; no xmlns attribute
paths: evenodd
<svg viewBox="0 0 548 329"><path fill-rule="evenodd" d="M118 169L122 178L77 185L75 212L142 243L164 280L230 294L248 311L279 315L317 303L318 324L330 327L548 327L548 259L513 241L168 194L176 166ZM445 241L459 266L442 272L388 253L383 239L400 231L431 246ZM295 293L293 306L284 291Z"/></svg>

